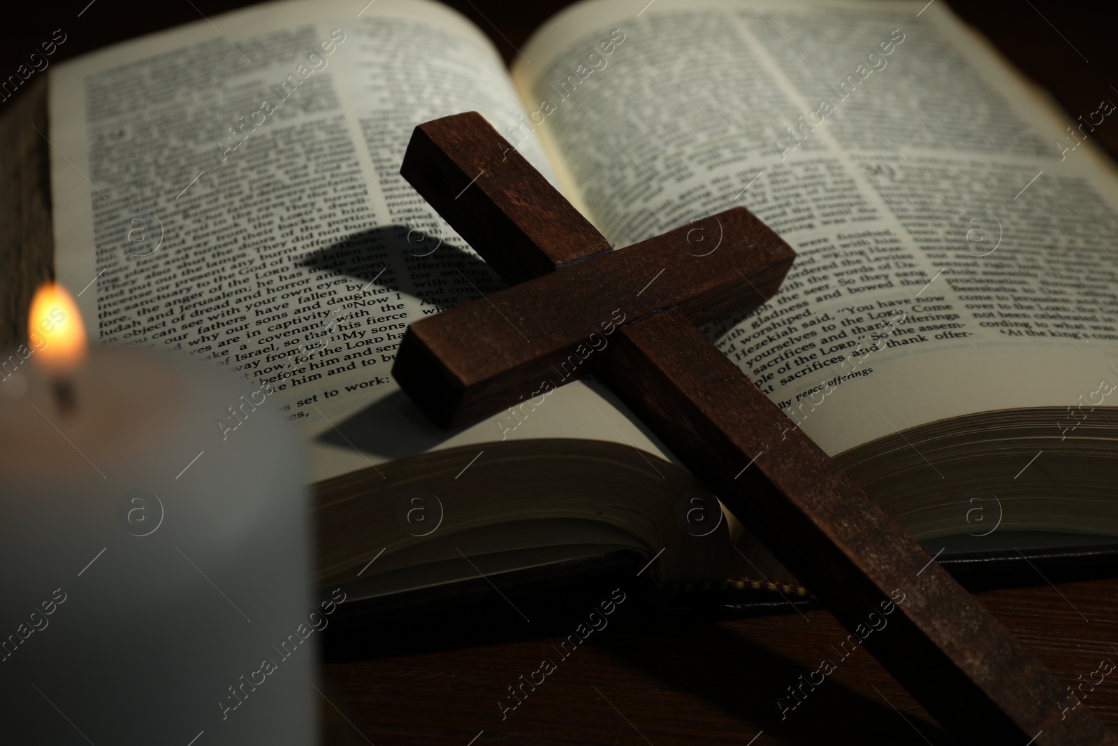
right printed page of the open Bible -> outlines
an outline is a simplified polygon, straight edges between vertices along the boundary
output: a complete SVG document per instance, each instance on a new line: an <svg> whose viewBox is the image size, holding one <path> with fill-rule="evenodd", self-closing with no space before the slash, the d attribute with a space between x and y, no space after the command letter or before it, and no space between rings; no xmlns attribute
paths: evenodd
<svg viewBox="0 0 1118 746"><path fill-rule="evenodd" d="M923 0L591 1L523 51L528 129L610 242L743 205L796 249L705 331L828 454L1118 372L1115 91L1071 120Z"/></svg>

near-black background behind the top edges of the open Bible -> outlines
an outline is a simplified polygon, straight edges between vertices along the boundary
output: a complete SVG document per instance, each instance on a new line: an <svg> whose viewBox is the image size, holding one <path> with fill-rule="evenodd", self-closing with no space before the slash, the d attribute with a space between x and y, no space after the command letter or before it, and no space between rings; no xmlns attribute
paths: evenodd
<svg viewBox="0 0 1118 746"><path fill-rule="evenodd" d="M633 0L634 8L645 1ZM368 0L353 0L354 12L366 2ZM202 13L212 17L253 3L172 0L157 6L95 0L91 7L86 8L88 0L21 2L4 8L0 22L0 78L15 74L16 68L38 49L39 43L48 40L58 28L67 39L50 57L51 64L115 41L196 21ZM566 0L448 0L446 4L474 21L509 59L515 54L513 45L522 46L537 27L569 3ZM1014 65L1051 91L1073 117L1095 111L1102 98L1118 98L1115 89L1118 87L1118 75L1115 75L1118 70L1118 44L1115 41L1118 3L953 0L948 4L989 38ZM85 11L78 17L83 9ZM0 114L13 101L16 96L0 102ZM1118 126L1100 126L1093 134L1111 155L1118 157Z"/></svg>

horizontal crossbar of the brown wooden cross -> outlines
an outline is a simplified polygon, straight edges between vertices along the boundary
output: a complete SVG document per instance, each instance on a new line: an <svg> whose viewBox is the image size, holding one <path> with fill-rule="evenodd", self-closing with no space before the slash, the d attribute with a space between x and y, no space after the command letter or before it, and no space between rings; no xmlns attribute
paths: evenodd
<svg viewBox="0 0 1118 746"><path fill-rule="evenodd" d="M689 240L697 232L721 245L700 255ZM590 372L597 356L581 365L598 347L590 334L600 338L618 311L634 320L676 306L692 323L723 319L770 298L794 257L748 210L727 210L416 321L392 372L433 421L465 425L539 396L546 381L558 386L571 362Z"/></svg>

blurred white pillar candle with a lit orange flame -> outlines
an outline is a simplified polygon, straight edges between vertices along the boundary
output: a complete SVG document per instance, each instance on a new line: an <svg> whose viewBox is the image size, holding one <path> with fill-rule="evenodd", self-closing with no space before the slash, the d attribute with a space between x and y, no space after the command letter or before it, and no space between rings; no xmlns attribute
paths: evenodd
<svg viewBox="0 0 1118 746"><path fill-rule="evenodd" d="M85 349L61 289L0 359L4 743L313 744L295 436L201 361ZM191 740L197 739L197 740Z"/></svg>

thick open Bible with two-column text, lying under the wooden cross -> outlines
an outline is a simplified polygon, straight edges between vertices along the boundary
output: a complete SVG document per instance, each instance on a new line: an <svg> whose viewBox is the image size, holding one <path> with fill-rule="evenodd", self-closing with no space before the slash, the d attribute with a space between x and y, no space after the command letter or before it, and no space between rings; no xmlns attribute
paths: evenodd
<svg viewBox="0 0 1118 746"><path fill-rule="evenodd" d="M320 580L351 598L617 556L803 594L595 381L607 333L467 428L400 393L408 323L502 286L398 173L416 124L477 111L615 246L736 205L792 244L778 295L705 331L787 415L758 427L802 427L938 559L1107 555L1114 93L1070 119L944 3L641 4L568 9L511 72L426 0L272 2L59 65L57 275L102 342L245 378L214 447L256 406L301 428Z"/></svg>

